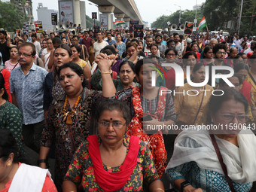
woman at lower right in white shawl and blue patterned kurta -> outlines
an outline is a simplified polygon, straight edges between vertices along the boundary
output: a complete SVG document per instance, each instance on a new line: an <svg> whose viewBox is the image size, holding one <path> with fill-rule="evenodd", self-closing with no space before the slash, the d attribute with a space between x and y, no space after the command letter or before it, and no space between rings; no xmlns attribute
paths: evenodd
<svg viewBox="0 0 256 192"><path fill-rule="evenodd" d="M209 103L211 110L209 119L212 125L221 127L222 124L226 127L225 122L228 121L233 125L240 124L243 118L247 117L245 105L248 106L248 103L245 98L239 96L238 92L236 93L236 90L226 89L224 96L219 96L217 99L216 97L218 96L212 96ZM179 182L183 179L190 183L190 187L200 188L203 191L230 192L221 163L212 145L209 130L200 130L199 126L196 128L197 130L183 130L175 139L174 153L166 168L172 187L179 188L181 185ZM231 133L230 130L229 132L215 130L212 133L236 192L251 190L252 182L256 181L254 133L248 129L238 130L236 133L233 130ZM227 141L221 136L233 136L235 142Z"/></svg>

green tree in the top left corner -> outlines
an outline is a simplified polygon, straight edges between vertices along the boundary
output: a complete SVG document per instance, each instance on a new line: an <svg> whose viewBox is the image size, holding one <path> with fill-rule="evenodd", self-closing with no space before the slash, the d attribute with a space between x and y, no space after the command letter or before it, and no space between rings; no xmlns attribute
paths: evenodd
<svg viewBox="0 0 256 192"><path fill-rule="evenodd" d="M26 22L27 17L22 11L17 9L10 2L0 2L0 28L4 28L8 32L13 32L14 29L22 29L23 22Z"/></svg>

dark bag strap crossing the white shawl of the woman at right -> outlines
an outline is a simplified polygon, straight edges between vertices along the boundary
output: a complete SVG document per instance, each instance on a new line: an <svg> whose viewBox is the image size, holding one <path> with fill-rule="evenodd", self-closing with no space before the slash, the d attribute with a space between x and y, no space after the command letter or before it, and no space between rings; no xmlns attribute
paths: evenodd
<svg viewBox="0 0 256 192"><path fill-rule="evenodd" d="M227 180L227 184L228 184L228 186L230 186L231 192L236 192L235 188L233 187L233 183L231 181L231 178L227 175L227 167L223 163L223 158L221 156L220 149L218 148L218 144L216 142L215 136L213 134L210 134L210 136L211 136L211 139L212 139L212 145L214 146L216 154L218 156L218 161L221 163L221 168L224 172L225 178Z"/></svg>

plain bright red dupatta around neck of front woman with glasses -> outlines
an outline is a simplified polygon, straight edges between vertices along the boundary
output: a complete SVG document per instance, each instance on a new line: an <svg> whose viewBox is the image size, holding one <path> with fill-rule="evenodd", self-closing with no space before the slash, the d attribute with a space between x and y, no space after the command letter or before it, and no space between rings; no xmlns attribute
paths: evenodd
<svg viewBox="0 0 256 192"><path fill-rule="evenodd" d="M130 148L120 166L119 172L107 172L103 168L102 158L99 152L98 136L88 136L87 141L89 142L88 152L91 160L93 161L94 175L96 182L104 191L116 191L120 190L126 181L132 175L133 169L137 165L137 157L139 154L139 137L130 137Z"/></svg>

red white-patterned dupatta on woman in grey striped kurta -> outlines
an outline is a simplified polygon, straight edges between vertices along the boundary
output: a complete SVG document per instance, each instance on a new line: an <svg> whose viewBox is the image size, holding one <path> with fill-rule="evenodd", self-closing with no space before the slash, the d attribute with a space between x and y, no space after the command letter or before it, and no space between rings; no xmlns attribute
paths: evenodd
<svg viewBox="0 0 256 192"><path fill-rule="evenodd" d="M164 90L166 87L160 87L160 90ZM158 98L157 110L152 116L157 116L158 120L161 120L163 117L163 111L165 111L166 105L166 94L160 92ZM166 92L165 92L166 93ZM134 117L131 120L130 126L128 127L126 134L128 136L139 136L148 148L151 150L154 158L154 165L156 166L157 173L159 177L163 175L163 172L166 169L167 165L167 152L163 142L163 135L161 131L158 131L156 134L148 136L148 134L143 132L143 109L142 102L140 99L139 87L133 87L133 108L134 108Z"/></svg>

